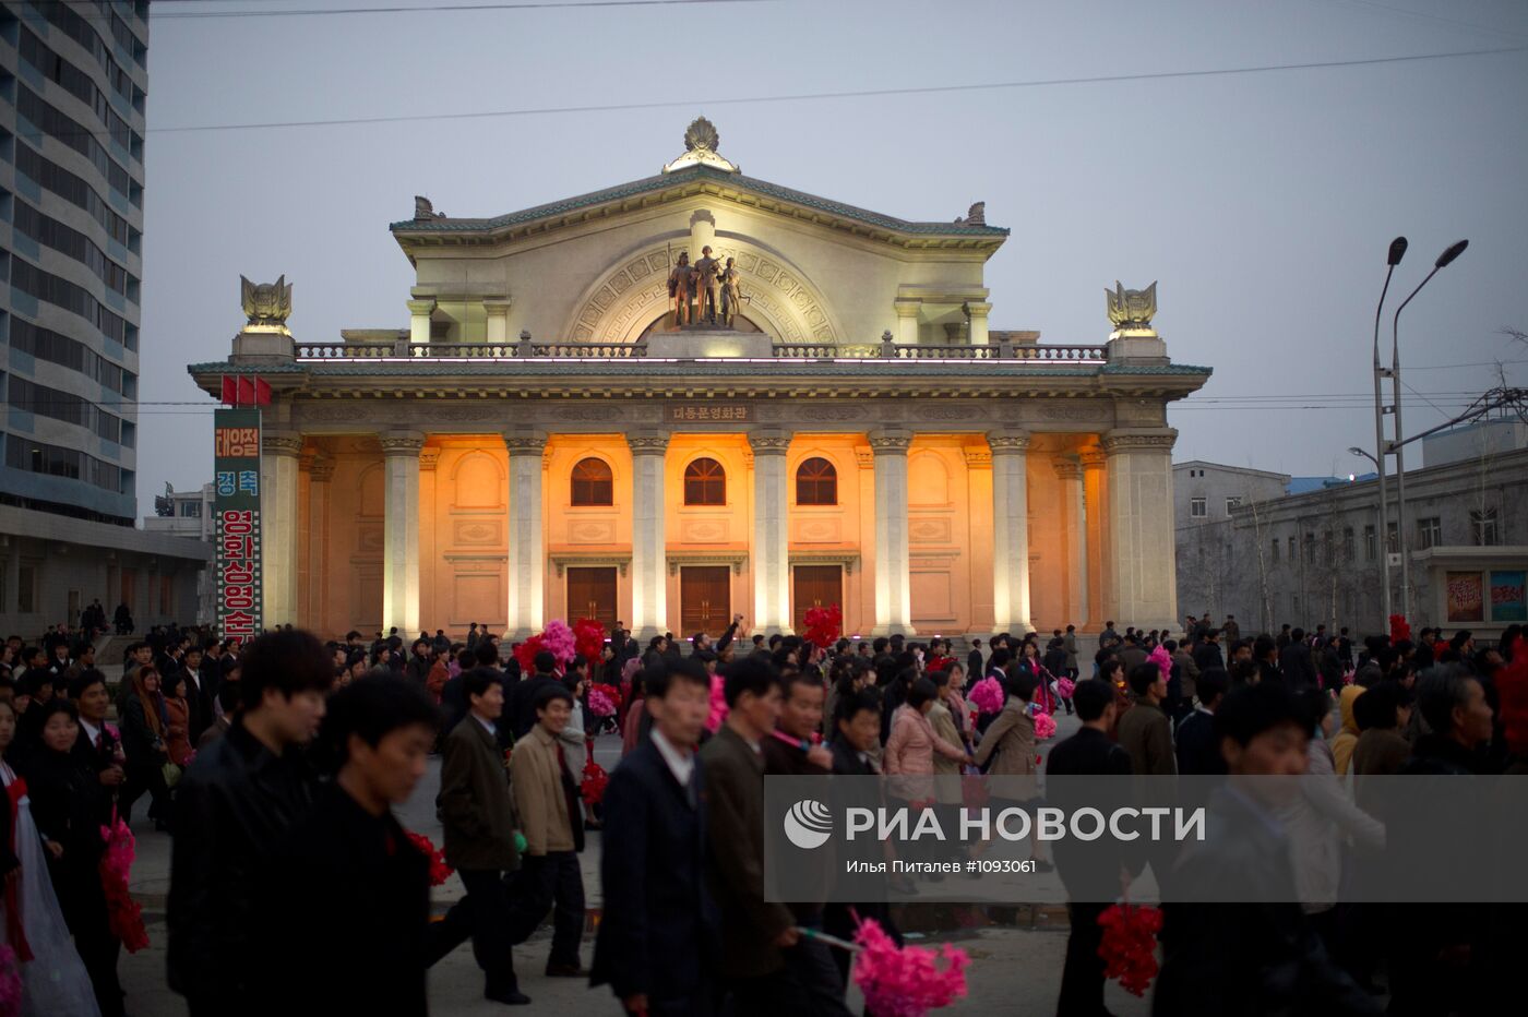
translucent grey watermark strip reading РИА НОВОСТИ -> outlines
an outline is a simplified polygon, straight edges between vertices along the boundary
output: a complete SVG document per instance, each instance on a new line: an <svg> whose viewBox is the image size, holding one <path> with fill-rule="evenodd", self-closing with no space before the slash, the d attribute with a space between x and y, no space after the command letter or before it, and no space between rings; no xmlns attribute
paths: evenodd
<svg viewBox="0 0 1528 1017"><path fill-rule="evenodd" d="M764 799L775 901L1326 904L1311 869L1345 857L1342 901L1528 902L1523 777L767 777Z"/></svg>

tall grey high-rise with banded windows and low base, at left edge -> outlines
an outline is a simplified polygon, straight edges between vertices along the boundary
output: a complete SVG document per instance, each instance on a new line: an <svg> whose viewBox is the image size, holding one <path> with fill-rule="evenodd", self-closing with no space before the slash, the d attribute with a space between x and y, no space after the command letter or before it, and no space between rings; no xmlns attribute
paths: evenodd
<svg viewBox="0 0 1528 1017"><path fill-rule="evenodd" d="M147 0L0 3L8 632L194 606L205 554L134 528L147 58Z"/></svg>

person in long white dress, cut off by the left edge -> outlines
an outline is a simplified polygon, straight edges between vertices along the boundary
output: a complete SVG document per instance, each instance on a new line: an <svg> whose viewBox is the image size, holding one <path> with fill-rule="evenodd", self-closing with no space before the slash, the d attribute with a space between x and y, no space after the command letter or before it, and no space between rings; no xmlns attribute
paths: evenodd
<svg viewBox="0 0 1528 1017"><path fill-rule="evenodd" d="M86 965L75 951L64 915L47 875L43 838L32 822L32 802L5 751L15 736L15 710L0 699L0 780L5 782L5 825L9 843L0 844L0 855L9 852L17 867L5 878L0 896L0 938L17 954L21 971L21 1014L24 1017L99 1017L95 991ZM31 959L28 959L31 957Z"/></svg>

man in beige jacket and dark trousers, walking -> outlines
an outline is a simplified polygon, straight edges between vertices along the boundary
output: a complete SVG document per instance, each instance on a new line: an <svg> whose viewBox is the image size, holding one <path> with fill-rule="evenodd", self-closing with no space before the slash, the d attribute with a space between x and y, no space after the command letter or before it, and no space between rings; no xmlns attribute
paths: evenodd
<svg viewBox="0 0 1528 1017"><path fill-rule="evenodd" d="M526 835L510 933L515 942L524 942L555 906L549 977L588 976L578 956L584 936L584 875L578 864L584 823L578 785L558 738L573 709L573 693L562 686L541 689L535 699L536 725L515 744L509 762L515 811Z"/></svg>

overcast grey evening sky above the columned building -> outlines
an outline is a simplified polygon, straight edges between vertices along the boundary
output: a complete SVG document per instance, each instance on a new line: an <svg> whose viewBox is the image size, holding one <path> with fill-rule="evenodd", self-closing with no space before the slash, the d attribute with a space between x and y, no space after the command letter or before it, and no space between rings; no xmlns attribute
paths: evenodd
<svg viewBox="0 0 1528 1017"><path fill-rule="evenodd" d="M1528 47L1522 0L270 14L339 6L443 3L153 5L139 515L165 481L185 490L211 479L212 403L185 365L228 356L243 322L240 273L258 282L286 273L301 341L406 327L413 273L387 226L413 215L414 194L451 215L497 215L636 180L680 154L700 113L717 124L721 153L753 177L912 220L952 220L984 200L987 221L1013 231L987 264L993 328L1102 342L1103 289L1157 279L1169 353L1215 368L1199 396L1170 411L1178 461L1296 475L1366 469L1346 449L1374 444L1374 305L1397 234L1412 244L1397 275L1403 293L1447 244L1470 240L1401 321L1406 380L1421 392L1407 392L1407 432L1491 386L1496 360L1510 382L1528 382L1528 347L1499 334L1528 330L1522 49L721 102ZM176 17L208 11L264 15ZM432 119L662 101L681 105ZM379 116L420 119L176 130ZM1387 325L1384 334L1387 347ZM196 405L162 405L185 400ZM1332 402L1342 408L1320 408Z"/></svg>

